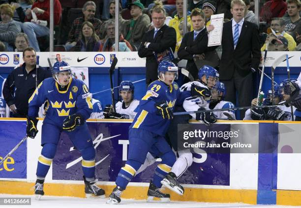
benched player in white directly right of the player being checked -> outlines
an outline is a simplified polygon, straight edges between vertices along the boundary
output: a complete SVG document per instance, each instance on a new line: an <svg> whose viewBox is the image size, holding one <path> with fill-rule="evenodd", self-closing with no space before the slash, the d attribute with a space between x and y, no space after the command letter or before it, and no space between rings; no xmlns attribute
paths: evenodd
<svg viewBox="0 0 301 208"><path fill-rule="evenodd" d="M226 95L226 87L225 84L222 82L216 82L215 86L211 89L211 100L209 104L210 109L225 109L225 108L232 108L235 105L228 101L223 101ZM217 118L224 118L229 119L229 116L226 116L224 112L229 113L229 116L232 119L235 119L235 112L234 110L225 110L225 111L215 111L214 114Z"/></svg>

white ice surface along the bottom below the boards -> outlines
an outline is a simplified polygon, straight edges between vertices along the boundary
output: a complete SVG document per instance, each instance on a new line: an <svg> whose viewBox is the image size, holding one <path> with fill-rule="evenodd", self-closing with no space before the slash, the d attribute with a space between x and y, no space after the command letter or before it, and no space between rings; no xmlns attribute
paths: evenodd
<svg viewBox="0 0 301 208"><path fill-rule="evenodd" d="M169 202L169 203L148 203L145 200L127 200L123 199L119 205L107 205L106 199L84 199L74 197L53 197L43 196L40 201L36 201L34 196L26 195L6 195L0 194L3 197L30 197L30 206L10 205L7 208L297 208L293 206L276 206L276 205L247 205L241 203L202 203L202 202ZM0 206L3 207L3 206ZM4 208L4 207L3 207Z"/></svg>

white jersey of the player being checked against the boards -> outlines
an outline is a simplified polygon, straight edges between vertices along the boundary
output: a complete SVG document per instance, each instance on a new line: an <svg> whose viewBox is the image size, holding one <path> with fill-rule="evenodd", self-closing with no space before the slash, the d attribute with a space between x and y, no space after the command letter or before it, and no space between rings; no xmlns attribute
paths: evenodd
<svg viewBox="0 0 301 208"><path fill-rule="evenodd" d="M194 85L198 85L200 87L204 87L204 88L207 88L204 84L202 84L201 82L199 81L193 81L193 82L188 82L188 83L185 83L181 86L180 88L180 91L183 92L183 91L190 91L191 89L191 85L194 84ZM208 89L208 88L207 88ZM205 109L209 109L209 101L206 101L204 99L204 97L188 97L184 100L183 102L183 108L186 110L186 111L196 111L198 110L200 107L204 107ZM190 114L194 119L196 117L196 114L195 113L192 113Z"/></svg>

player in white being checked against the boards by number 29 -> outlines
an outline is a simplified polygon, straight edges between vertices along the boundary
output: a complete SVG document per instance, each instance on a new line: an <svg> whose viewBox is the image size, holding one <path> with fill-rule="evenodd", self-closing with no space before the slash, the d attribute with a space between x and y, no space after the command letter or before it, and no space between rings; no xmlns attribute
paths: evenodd
<svg viewBox="0 0 301 208"><path fill-rule="evenodd" d="M211 66L203 66L199 70L199 80L188 82L181 86L181 91L191 91L191 97L186 98L183 102L183 108L186 111L194 111L194 110L208 110L209 103L211 99L211 89L216 85L219 81L219 74L216 69ZM197 93L194 91L197 90ZM190 114L196 120L202 120L204 124L210 125L211 123L216 122L216 116L212 112L204 112L204 113L197 113L197 114ZM177 118L177 117L176 117ZM177 131L175 129L178 123L181 122L174 122L175 119L172 121L170 125L168 136L170 139L170 143L173 146L175 151L178 151L178 142L177 142ZM174 123L174 125L173 125ZM187 120L188 123L188 120ZM184 189L181 184L177 181L185 171L192 165L193 157L191 152L187 151L178 151L179 158L177 158L176 163L173 165L172 170L170 173L166 175L165 178L161 181L163 185L165 185L170 190L176 192L177 194L182 195L184 193Z"/></svg>

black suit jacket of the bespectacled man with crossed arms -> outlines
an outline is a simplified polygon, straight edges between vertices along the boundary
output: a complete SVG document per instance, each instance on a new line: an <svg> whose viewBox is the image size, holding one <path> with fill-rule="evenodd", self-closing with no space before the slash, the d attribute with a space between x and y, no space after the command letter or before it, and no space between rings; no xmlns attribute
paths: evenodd
<svg viewBox="0 0 301 208"><path fill-rule="evenodd" d="M160 53L169 47L175 51L177 43L177 34L174 28L163 25L162 28L157 32L155 38L153 38L154 29L146 32L142 38L138 55L140 58L146 57L146 83L158 79L158 63L154 57L154 53ZM144 46L145 42L150 42L148 48Z"/></svg>

